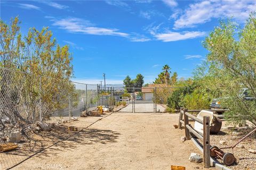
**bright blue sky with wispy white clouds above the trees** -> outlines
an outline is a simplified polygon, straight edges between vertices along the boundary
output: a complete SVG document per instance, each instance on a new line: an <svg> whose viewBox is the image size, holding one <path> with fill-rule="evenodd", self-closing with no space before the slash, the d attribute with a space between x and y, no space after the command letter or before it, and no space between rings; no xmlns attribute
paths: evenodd
<svg viewBox="0 0 256 170"><path fill-rule="evenodd" d="M207 51L202 41L222 18L243 24L256 1L1 1L1 19L19 15L21 32L49 26L69 44L75 80L122 83L138 73L152 82L169 64L188 78Z"/></svg>

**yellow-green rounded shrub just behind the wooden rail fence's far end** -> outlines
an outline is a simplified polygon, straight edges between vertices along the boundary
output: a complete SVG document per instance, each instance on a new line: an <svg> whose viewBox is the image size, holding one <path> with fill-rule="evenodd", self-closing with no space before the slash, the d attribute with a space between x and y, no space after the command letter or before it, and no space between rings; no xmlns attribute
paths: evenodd
<svg viewBox="0 0 256 170"><path fill-rule="evenodd" d="M195 90L191 94L185 95L183 103L184 107L188 109L209 109L211 96Z"/></svg>

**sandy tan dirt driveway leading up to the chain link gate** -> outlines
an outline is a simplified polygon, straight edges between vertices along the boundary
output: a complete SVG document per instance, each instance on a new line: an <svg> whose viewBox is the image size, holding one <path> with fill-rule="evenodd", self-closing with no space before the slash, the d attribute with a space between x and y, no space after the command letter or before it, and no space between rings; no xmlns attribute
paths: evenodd
<svg viewBox="0 0 256 170"><path fill-rule="evenodd" d="M202 169L190 163L191 152L201 154L191 141L182 143L184 130L174 129L178 114L113 113L109 116L81 117L65 124L83 129L34 156L0 154L2 168L13 169ZM54 130L53 130L54 131ZM202 155L202 154L201 154ZM3 162L7 159L7 162ZM15 164L13 164L15 163Z"/></svg>

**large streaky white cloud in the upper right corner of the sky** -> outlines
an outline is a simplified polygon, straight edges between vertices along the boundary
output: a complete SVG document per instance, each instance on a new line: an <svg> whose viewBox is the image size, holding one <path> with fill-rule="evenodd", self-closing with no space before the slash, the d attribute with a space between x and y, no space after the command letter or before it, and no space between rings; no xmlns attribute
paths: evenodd
<svg viewBox="0 0 256 170"><path fill-rule="evenodd" d="M174 22L174 29L191 28L213 18L231 18L245 21L255 11L256 1L199 1L190 4Z"/></svg>

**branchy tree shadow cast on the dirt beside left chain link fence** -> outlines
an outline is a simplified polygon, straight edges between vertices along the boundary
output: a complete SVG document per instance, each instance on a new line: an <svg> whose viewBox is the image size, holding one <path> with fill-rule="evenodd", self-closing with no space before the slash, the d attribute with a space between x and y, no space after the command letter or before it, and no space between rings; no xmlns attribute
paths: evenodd
<svg viewBox="0 0 256 170"><path fill-rule="evenodd" d="M32 157L53 157L65 150L73 152L81 145L117 142L120 133L112 130L86 128L68 131L67 126L58 125L50 132L30 133L28 140L20 143L17 150L0 153L3 169L13 168Z"/></svg>

